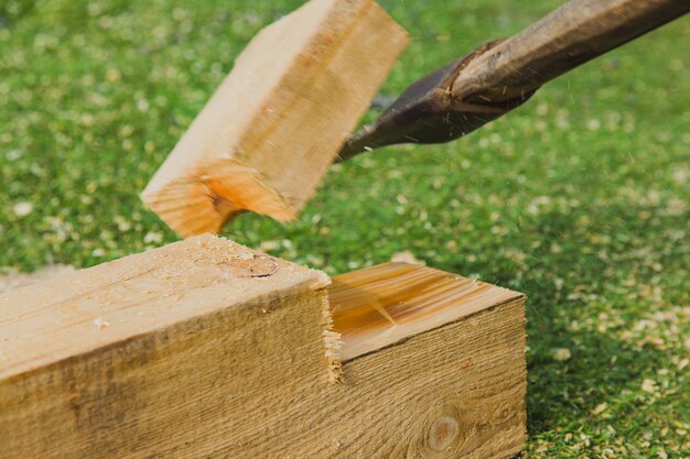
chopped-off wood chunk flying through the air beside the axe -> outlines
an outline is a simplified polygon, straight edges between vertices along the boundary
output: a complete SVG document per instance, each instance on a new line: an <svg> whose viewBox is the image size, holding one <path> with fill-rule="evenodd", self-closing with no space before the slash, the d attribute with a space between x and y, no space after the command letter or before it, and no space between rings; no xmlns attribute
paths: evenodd
<svg viewBox="0 0 690 459"><path fill-rule="evenodd" d="M182 237L294 219L406 43L374 0L311 0L249 43L143 201Z"/></svg>

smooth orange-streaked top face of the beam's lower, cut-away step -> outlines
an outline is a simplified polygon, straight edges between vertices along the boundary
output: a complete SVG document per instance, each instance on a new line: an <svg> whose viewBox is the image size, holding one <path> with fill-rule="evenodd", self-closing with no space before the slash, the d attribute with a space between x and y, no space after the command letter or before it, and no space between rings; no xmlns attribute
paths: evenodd
<svg viewBox="0 0 690 459"><path fill-rule="evenodd" d="M341 363L525 295L421 265L387 263L328 286Z"/></svg>

